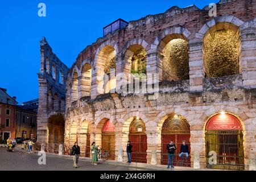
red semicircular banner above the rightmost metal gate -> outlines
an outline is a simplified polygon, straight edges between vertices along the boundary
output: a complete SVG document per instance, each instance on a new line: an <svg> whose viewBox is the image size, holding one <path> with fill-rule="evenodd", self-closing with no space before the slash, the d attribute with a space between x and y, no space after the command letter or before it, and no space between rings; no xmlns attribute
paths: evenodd
<svg viewBox="0 0 256 182"><path fill-rule="evenodd" d="M231 114L214 115L207 123L207 130L242 130L240 121Z"/></svg>

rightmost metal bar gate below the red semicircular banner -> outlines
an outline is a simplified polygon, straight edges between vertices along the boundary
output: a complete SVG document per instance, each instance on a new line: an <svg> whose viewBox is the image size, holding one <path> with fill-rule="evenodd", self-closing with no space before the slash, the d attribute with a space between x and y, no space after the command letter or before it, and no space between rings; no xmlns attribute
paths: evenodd
<svg viewBox="0 0 256 182"><path fill-rule="evenodd" d="M205 133L207 168L244 170L241 130L210 130ZM209 164L209 152L217 153L217 163Z"/></svg>

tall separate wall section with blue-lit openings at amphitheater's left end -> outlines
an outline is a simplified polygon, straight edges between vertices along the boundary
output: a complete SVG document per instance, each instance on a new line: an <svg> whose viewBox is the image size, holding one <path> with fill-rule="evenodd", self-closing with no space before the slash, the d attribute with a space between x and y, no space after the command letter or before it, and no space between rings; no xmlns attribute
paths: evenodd
<svg viewBox="0 0 256 182"><path fill-rule="evenodd" d="M38 106L38 141L51 142L57 133L61 135L61 123L55 123L52 118L64 117L65 113L65 84L68 67L61 63L52 52L52 48L43 38L40 42L40 72L39 81L39 106ZM64 121L64 119L62 119ZM63 123L64 125L64 123ZM64 135L64 132L63 134ZM59 137L57 137L59 138ZM59 143L61 140L58 140Z"/></svg>

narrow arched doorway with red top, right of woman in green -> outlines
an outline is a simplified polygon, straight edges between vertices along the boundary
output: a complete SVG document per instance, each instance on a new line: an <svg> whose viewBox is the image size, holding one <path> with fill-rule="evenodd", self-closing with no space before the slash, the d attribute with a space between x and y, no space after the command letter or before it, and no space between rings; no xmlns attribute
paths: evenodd
<svg viewBox="0 0 256 182"><path fill-rule="evenodd" d="M109 151L110 160L115 160L115 126L114 124L108 120L105 122L104 126L101 129L102 139L101 146L104 150Z"/></svg>

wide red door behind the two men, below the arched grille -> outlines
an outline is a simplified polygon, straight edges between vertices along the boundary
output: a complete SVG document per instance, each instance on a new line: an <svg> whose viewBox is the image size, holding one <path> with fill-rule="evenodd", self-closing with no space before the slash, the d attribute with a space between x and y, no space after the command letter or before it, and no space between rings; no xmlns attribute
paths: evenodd
<svg viewBox="0 0 256 182"><path fill-rule="evenodd" d="M190 134L162 134L162 157L161 157L161 163L163 165L167 165L168 163L168 152L166 149L166 146L168 143L170 143L171 140L174 140L175 146L177 150L175 151L175 158L174 158L174 166L187 166L190 167L190 156L188 158L187 163L184 163L182 159L179 158L180 154L180 146L183 142L183 140L186 140L186 143L188 144L189 151L190 151Z"/></svg>

